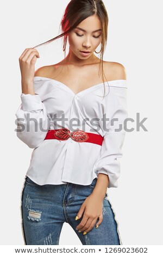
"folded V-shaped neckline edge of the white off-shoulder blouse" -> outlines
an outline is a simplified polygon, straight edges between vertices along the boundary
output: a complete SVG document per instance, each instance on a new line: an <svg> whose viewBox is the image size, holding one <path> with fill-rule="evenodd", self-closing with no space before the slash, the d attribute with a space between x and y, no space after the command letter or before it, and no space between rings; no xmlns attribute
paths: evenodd
<svg viewBox="0 0 163 256"><path fill-rule="evenodd" d="M95 84L95 85L93 85L93 86L91 86L91 87L89 87L89 88L86 88L86 89L84 89L84 90L81 90L81 91L78 92L78 93L74 93L73 90L72 90L70 87L66 86L66 84L64 84L64 83L62 83L62 82L60 82L60 81L58 81L58 80L54 80L54 79L52 79L52 78L43 77L43 76L34 76L34 80L35 80L35 77L36 77L36 78L39 77L39 78L41 79L41 81L43 81L43 80L50 80L50 81L54 81L55 83L59 83L59 84L61 84L61 86L63 86L66 90L68 90L68 92L72 93L73 96L78 96L79 94L83 94L83 93L85 93L85 92L89 92L90 90L92 90L92 89L94 89L94 88L96 88L96 87L97 87L97 88L98 88L98 87L101 87L101 86L103 85L103 82L102 82L102 83L98 83L98 84ZM109 82L115 82L115 81L127 81L127 80L125 80L125 79L118 79L118 80L105 81L104 84L105 84L105 83L109 83Z"/></svg>

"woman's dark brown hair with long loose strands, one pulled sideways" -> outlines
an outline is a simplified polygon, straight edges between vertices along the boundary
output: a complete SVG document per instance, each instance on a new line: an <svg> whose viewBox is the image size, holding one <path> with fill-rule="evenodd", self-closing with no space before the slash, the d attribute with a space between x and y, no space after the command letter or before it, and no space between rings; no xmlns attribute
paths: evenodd
<svg viewBox="0 0 163 256"><path fill-rule="evenodd" d="M102 26L102 41L101 41L101 52L99 57L100 58L99 70L100 70L100 74L102 75L102 81L104 83L105 74L103 70L103 54L104 54L106 42L107 42L109 19L108 19L106 8L102 0L71 0L70 3L68 3L65 9L64 15L62 16L62 19L60 22L61 34L56 36L55 38L52 38L51 40L43 42L42 44L36 45L33 48L36 48L40 45L47 44L55 39L58 39L64 36L63 51L65 52L65 57L66 57L65 50L66 50L68 33L70 33L74 28L76 28L80 22L82 22L87 17L90 17L92 15L98 16ZM105 84L104 84L104 92L105 92Z"/></svg>

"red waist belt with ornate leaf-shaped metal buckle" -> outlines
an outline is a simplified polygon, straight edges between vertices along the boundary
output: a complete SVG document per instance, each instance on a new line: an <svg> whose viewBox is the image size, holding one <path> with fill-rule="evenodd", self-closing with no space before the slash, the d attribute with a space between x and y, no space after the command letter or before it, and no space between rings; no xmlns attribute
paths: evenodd
<svg viewBox="0 0 163 256"><path fill-rule="evenodd" d="M102 145L104 137L101 135L91 133L91 132L84 132L82 130L76 130L70 132L70 130L58 129L58 130L48 130L45 139L58 139L59 141L65 141L66 139L70 138L76 142L90 142L98 145Z"/></svg>

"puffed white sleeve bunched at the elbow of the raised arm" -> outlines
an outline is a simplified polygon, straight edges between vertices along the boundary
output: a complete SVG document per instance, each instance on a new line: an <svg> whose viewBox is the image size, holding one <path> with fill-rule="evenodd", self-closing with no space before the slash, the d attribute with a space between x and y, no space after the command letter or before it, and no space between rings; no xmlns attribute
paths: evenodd
<svg viewBox="0 0 163 256"><path fill-rule="evenodd" d="M16 111L16 135L29 148L37 148L46 137L50 126L45 105L39 94L21 94L21 105Z"/></svg>

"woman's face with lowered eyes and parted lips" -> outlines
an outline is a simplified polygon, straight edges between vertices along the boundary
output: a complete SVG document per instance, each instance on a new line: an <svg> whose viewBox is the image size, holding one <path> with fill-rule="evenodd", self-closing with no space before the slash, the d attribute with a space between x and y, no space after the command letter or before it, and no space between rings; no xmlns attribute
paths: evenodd
<svg viewBox="0 0 163 256"><path fill-rule="evenodd" d="M93 54L102 40L101 22L96 15L87 17L68 34L70 51L80 59L87 59ZM89 51L84 54L81 51Z"/></svg>

